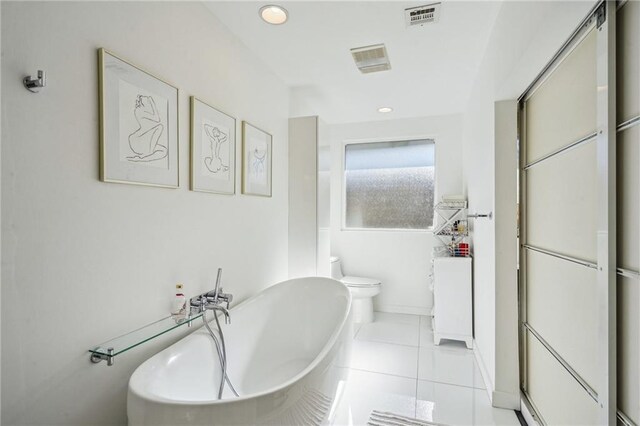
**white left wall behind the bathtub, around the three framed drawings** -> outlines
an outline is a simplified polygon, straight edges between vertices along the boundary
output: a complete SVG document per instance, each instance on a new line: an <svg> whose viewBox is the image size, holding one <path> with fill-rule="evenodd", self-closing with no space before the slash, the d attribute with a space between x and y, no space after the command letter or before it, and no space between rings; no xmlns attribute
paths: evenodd
<svg viewBox="0 0 640 426"><path fill-rule="evenodd" d="M125 424L130 374L183 332L112 367L87 349L166 316L176 282L211 289L219 266L238 301L287 278L289 91L197 2L1 7L2 423ZM179 189L98 181L99 47L181 89ZM238 135L243 119L273 135L273 198L188 190L190 95Z"/></svg>

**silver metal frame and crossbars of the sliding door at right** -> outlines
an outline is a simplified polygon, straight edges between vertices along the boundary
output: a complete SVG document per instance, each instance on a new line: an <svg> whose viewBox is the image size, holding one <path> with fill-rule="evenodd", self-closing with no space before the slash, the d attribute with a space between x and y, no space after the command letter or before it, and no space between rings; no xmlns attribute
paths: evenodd
<svg viewBox="0 0 640 426"><path fill-rule="evenodd" d="M617 380L616 380L616 2L600 0L587 17L571 34L551 61L533 80L531 85L518 99L518 144L519 144L519 203L520 203L520 274L519 274L519 339L520 339L520 377L521 391L533 409L533 414L541 424L544 418L527 392L527 333L530 332L546 350L564 367L567 372L584 388L598 404L599 424L615 425L617 417ZM594 29L595 27L595 29ZM526 251L535 248L527 245L527 173L526 169L538 161L552 157L571 146L551 152L542 159L526 164L526 101L533 92L557 69L573 49L580 44L584 36L592 30L597 31L596 41L596 81L597 81L597 127L596 134L571 146L596 138L597 158L597 264L587 264L558 253L546 251L546 254L564 260L580 263L597 270L598 302L598 389L591 388L580 375L553 348L537 335L527 323L527 264ZM579 213L578 213L579 214Z"/></svg>

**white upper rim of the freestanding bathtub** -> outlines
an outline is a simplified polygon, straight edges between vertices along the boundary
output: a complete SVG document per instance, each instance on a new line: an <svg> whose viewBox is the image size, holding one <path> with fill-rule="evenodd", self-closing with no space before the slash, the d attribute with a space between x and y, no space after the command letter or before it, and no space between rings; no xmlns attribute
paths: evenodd
<svg viewBox="0 0 640 426"><path fill-rule="evenodd" d="M338 284L338 288L341 287L346 292L346 295L347 295L347 309L345 310L345 312L344 312L344 314L343 314L343 316L342 316L342 318L341 318L341 320L339 322L339 327L336 327L333 330L333 332L331 333L331 336L326 341L325 345L322 347L322 350L320 350L320 352L318 352L318 355L316 355L316 357L309 363L309 365L307 365L301 372L299 372L298 374L296 374L295 376L293 376L289 380L279 384L276 387L272 387L272 388L266 389L264 391L257 392L257 393L252 393L252 394L249 394L249 395L243 395L243 396L234 397L234 398L227 398L227 399L211 399L211 400L200 400L200 401L185 401L185 400L169 399L169 398L166 398L166 397L158 396L156 394L152 394L152 393L146 391L145 389L136 389L131 385L131 382L134 379L134 376L138 372L138 369L140 367L142 367L146 362L148 362L151 359L155 358L156 356L158 356L162 352L164 352L164 351L166 351L166 350L178 345L184 339L188 339L193 335L196 335L196 334L209 335L208 331L204 328L204 326L201 325L197 330L194 330L192 333L189 333L188 335L184 336L182 339L178 340L177 342L167 346L166 348L164 348L161 351L157 352L156 354L154 354L150 358L147 358L146 360L144 360L142 362L142 364L140 364L138 367L136 367L136 369L133 371L133 373L129 377L129 382L128 382L128 385L127 385L128 394L133 393L133 394L135 394L136 397L138 397L138 398L140 398L140 399L142 399L144 401L149 401L149 402L159 403L159 404L164 404L164 405L200 406L200 405L218 405L218 404L241 403L241 402L245 402L245 401L250 401L251 399L256 399L256 398L259 398L259 397L262 397L262 396L273 394L275 392L279 392L279 391L281 391L283 389L291 387L296 382L302 380L305 376L307 376L309 373L311 373L318 366L318 364L320 364L320 362L334 348L336 342L340 338L340 335L343 333L344 327L345 327L346 323L349 321L349 318L351 316L352 296L351 296L351 292L349 291L349 288L344 283L342 283L341 281L335 280L333 278L328 278L328 277L292 278L292 279L289 279L289 280L286 280L286 281L281 281L281 282L275 283L275 284L273 284L273 285L271 285L269 287L266 287L265 289L259 291L258 293L254 294L253 296L249 297L248 299L243 300L237 306L235 306L234 308L229 310L230 313L233 313L233 311L236 310L236 309L244 308L244 305L252 302L254 299L257 299L258 297L263 295L265 292L275 291L273 289L275 289L278 286L285 285L285 284L292 284L292 283L294 283L296 281L305 281L305 280L309 280L309 279L312 279L313 281L317 281L317 280L327 281L328 280L328 281L333 281L334 283ZM220 316L220 315L222 315L222 314L218 314L218 316ZM211 321L215 321L213 316L211 316L210 318L211 319L209 320L209 323L211 323ZM129 405L129 401L128 400L129 400L129 395L127 395L127 406Z"/></svg>

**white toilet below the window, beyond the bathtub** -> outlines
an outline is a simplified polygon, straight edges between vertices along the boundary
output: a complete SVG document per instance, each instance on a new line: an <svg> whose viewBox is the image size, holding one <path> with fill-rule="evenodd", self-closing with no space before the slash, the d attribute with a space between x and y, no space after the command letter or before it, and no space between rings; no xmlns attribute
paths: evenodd
<svg viewBox="0 0 640 426"><path fill-rule="evenodd" d="M340 259L332 256L331 278L341 281L351 292L353 321L368 323L373 321L373 297L380 294L380 280L364 277L345 277Z"/></svg>

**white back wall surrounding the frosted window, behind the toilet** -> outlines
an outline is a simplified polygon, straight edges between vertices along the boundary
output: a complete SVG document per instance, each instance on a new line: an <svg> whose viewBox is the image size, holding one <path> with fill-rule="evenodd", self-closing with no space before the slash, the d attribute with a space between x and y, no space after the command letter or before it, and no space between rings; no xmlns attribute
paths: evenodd
<svg viewBox="0 0 640 426"><path fill-rule="evenodd" d="M386 312L430 314L431 251L439 242L430 231L348 231L342 229L345 141L433 138L436 143L436 200L462 190L461 115L334 124L331 137L331 251L345 275L382 281L375 308Z"/></svg>

